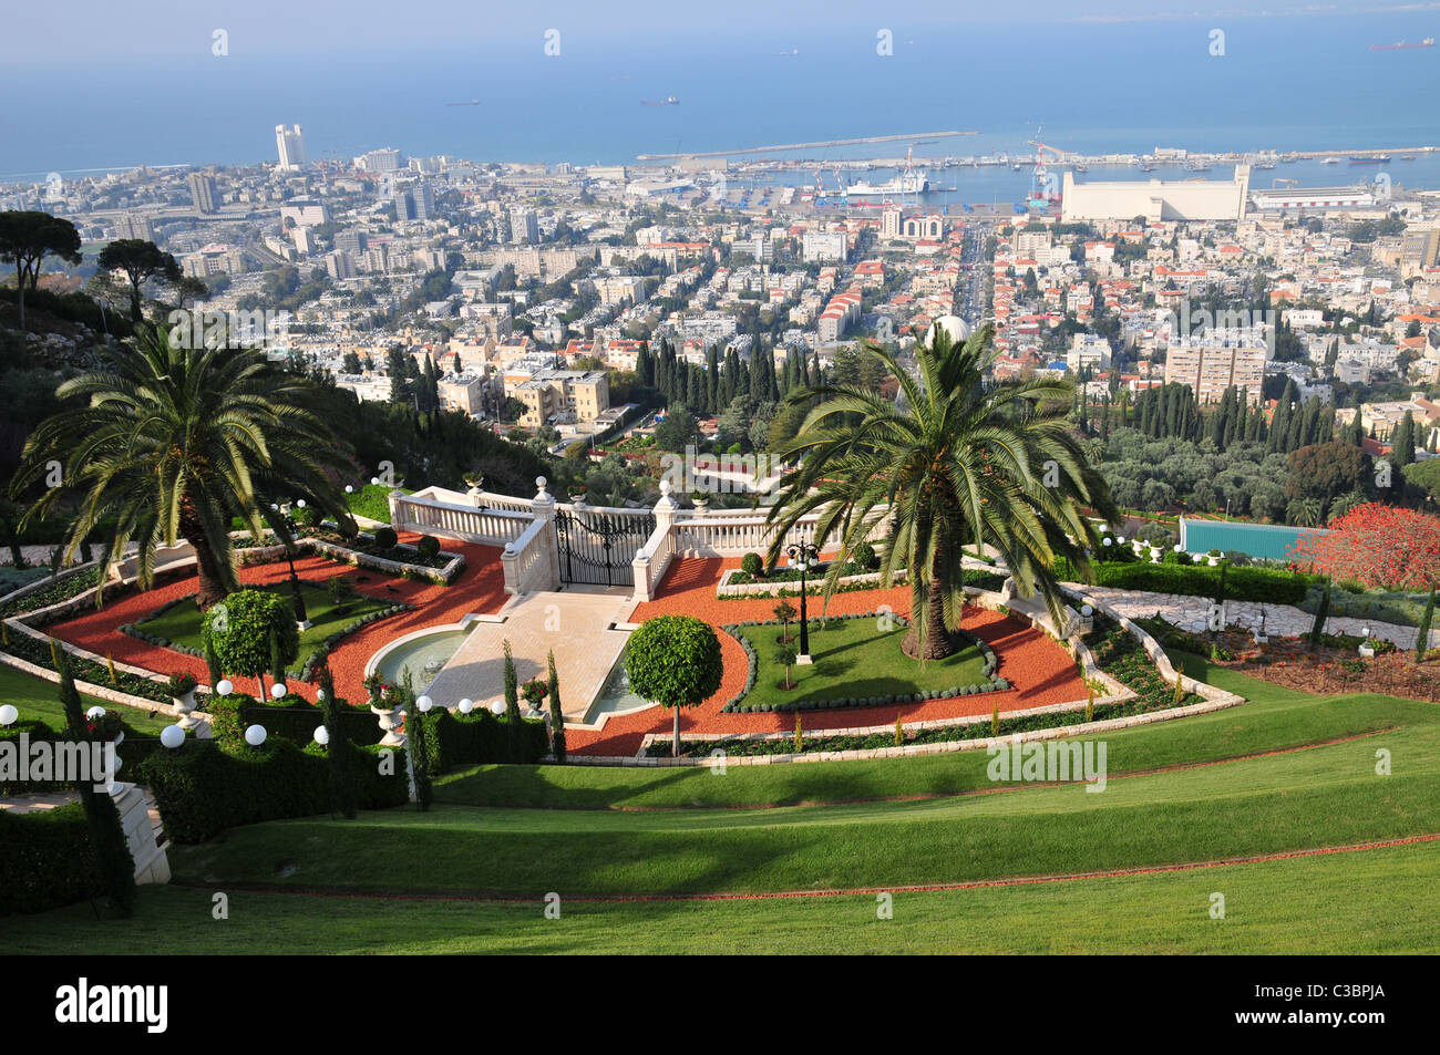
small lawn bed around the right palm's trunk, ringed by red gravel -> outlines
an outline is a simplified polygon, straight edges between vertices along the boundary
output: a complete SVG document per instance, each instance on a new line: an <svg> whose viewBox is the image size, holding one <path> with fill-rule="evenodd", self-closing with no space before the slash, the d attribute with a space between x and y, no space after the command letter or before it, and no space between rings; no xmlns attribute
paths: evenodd
<svg viewBox="0 0 1440 1055"><path fill-rule="evenodd" d="M793 689L782 688L785 668L775 659L780 626L740 626L736 633L755 648L755 688L742 701L755 704L799 704L809 699L841 699L847 697L887 697L924 689L946 689L978 685L984 681L981 651L969 645L946 659L924 664L900 651L906 628L881 632L873 619L831 619L825 629L815 629L811 620L809 646L815 661L806 666L792 666ZM799 648L799 628L791 623L791 643Z"/></svg>

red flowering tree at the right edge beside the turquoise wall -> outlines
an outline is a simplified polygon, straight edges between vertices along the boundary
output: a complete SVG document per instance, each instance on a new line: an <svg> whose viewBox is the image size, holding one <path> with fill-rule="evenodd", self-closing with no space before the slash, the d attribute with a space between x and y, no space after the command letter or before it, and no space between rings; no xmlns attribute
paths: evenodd
<svg viewBox="0 0 1440 1055"><path fill-rule="evenodd" d="M1368 587L1433 590L1440 586L1440 517L1367 502L1305 531L1290 547L1300 564Z"/></svg>

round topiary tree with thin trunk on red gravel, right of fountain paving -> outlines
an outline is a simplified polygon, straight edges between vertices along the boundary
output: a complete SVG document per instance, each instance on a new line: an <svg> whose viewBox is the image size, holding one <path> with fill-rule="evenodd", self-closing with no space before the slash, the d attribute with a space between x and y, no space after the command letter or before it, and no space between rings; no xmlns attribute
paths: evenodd
<svg viewBox="0 0 1440 1055"><path fill-rule="evenodd" d="M675 712L672 753L680 754L680 708L698 707L720 688L720 639L694 616L657 616L629 636L625 672L645 699Z"/></svg>

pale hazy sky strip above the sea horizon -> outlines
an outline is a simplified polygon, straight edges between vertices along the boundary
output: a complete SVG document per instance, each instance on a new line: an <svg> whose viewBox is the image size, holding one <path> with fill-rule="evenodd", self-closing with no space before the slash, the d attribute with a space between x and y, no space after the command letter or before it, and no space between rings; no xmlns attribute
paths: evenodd
<svg viewBox="0 0 1440 1055"><path fill-rule="evenodd" d="M413 53L527 37L539 47L546 29L562 35L658 37L726 33L802 33L854 24L873 32L975 22L1073 19L1254 17L1263 14L1437 10L1440 1L1342 0L42 0L7 3L0 16L0 66L10 72L69 63L122 68L127 62L184 62L209 55L225 29L233 49L304 59L325 53ZM799 37L802 39L802 37Z"/></svg>

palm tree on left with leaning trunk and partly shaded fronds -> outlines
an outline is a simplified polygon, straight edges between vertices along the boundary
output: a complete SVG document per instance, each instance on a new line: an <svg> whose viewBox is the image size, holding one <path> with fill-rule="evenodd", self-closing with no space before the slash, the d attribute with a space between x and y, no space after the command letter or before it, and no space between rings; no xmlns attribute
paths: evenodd
<svg viewBox="0 0 1440 1055"><path fill-rule="evenodd" d="M36 427L12 494L48 476L53 462L62 466L59 484L24 520L43 518L62 497L78 495L66 557L101 521L114 518L109 560L121 560L131 540L138 543L140 584L148 589L156 547L184 538L194 547L197 603L204 610L238 589L230 520L240 517L262 535L261 497L300 492L353 525L325 475L325 468L346 463L346 453L305 409L312 384L276 371L259 350L173 347L166 331L144 325L109 368L65 381L56 396L84 406Z"/></svg>

